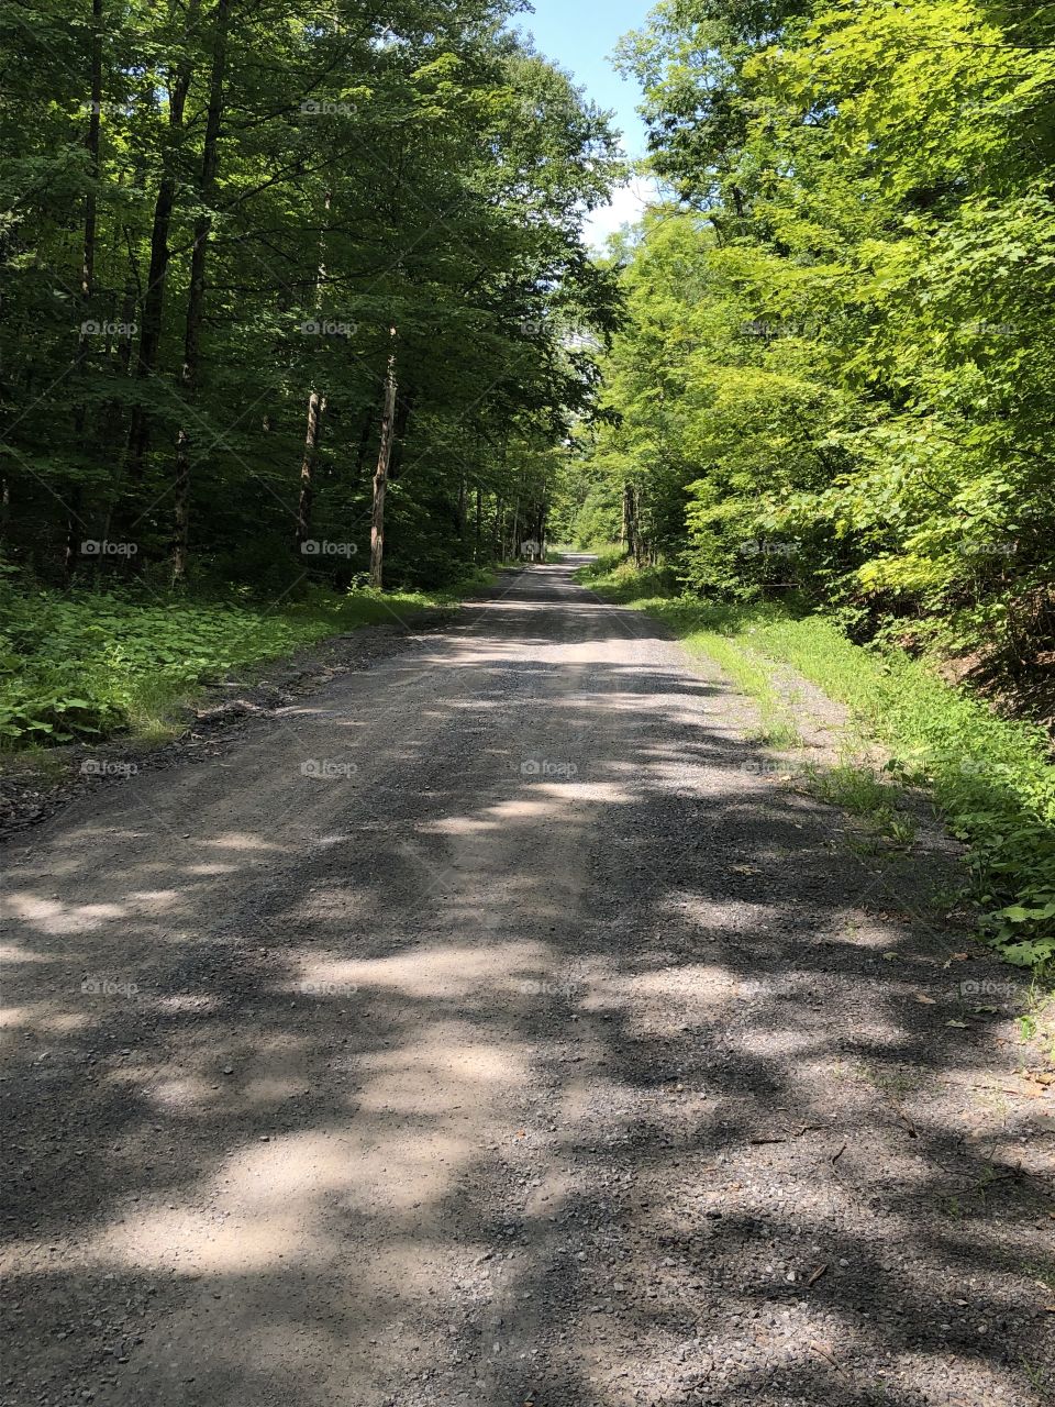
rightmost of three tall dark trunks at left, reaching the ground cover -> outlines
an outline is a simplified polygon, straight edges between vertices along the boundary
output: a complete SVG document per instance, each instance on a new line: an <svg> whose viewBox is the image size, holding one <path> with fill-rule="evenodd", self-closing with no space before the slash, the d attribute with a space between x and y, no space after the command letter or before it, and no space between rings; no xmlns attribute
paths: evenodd
<svg viewBox="0 0 1055 1407"><path fill-rule="evenodd" d="M226 72L226 31L231 0L217 0L212 31L212 70L208 86L205 138L201 148L201 179L198 198L201 211L194 221L194 246L190 256L190 290L187 293L187 324L183 338L183 397L194 404L201 363L201 325L205 312L205 250L212 231L210 214L217 191L219 165L219 124L224 115L224 76ZM174 585L187 580L187 550L190 543L190 432L186 424L176 438L174 529L172 580Z"/></svg>

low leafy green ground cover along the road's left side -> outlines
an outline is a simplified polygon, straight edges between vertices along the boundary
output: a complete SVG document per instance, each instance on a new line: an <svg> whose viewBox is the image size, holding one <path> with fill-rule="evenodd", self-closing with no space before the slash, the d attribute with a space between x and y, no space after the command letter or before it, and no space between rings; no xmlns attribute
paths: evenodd
<svg viewBox="0 0 1055 1407"><path fill-rule="evenodd" d="M0 591L0 749L24 751L129 734L159 741L231 673L326 636L442 609L459 592L312 592L279 606L235 597Z"/></svg>

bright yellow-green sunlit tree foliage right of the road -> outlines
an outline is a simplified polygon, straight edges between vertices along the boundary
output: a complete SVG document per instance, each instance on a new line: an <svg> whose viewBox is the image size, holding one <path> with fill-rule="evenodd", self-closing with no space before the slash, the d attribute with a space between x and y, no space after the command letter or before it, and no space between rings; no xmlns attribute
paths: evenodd
<svg viewBox="0 0 1055 1407"><path fill-rule="evenodd" d="M1055 6L664 0L578 530L1055 712Z"/></svg>

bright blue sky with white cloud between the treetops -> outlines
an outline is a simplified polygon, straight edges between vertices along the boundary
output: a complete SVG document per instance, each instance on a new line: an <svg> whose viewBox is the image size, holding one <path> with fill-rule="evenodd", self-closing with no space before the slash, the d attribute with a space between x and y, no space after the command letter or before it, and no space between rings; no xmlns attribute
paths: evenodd
<svg viewBox="0 0 1055 1407"><path fill-rule="evenodd" d="M651 0L533 0L533 8L535 14L519 17L518 28L533 34L539 51L567 69L587 97L615 111L627 156L641 156L644 125L634 111L640 90L615 72L610 55L627 30L641 28ZM588 221L591 242L603 249L609 234L640 217L651 193L651 183L639 180L618 190L612 204Z"/></svg>

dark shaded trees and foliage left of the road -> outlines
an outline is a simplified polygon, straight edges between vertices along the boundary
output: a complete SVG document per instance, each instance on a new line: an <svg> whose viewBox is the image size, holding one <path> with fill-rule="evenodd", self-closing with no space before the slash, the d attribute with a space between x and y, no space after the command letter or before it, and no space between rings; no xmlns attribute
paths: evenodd
<svg viewBox="0 0 1055 1407"><path fill-rule="evenodd" d="M618 162L516 8L0 0L8 561L345 585L380 532L436 582L544 532Z"/></svg>

